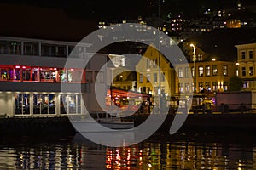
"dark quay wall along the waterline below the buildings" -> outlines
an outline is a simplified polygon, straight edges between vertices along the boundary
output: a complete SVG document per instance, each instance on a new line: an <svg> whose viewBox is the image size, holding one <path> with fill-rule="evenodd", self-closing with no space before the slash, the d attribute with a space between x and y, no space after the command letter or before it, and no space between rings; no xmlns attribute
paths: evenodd
<svg viewBox="0 0 256 170"><path fill-rule="evenodd" d="M159 118L159 115L153 115ZM160 133L169 133L175 114L168 114L158 129ZM148 114L131 116L135 126L148 118ZM192 114L189 115L178 132L256 132L256 114ZM52 117L1 117L1 135L75 135L73 125L67 116Z"/></svg>

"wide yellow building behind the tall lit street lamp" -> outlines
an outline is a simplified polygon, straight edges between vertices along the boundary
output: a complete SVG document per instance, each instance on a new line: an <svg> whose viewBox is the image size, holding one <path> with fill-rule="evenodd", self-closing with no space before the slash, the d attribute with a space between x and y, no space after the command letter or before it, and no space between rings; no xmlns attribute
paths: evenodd
<svg viewBox="0 0 256 170"><path fill-rule="evenodd" d="M194 63L193 54L193 50L188 54L189 67L175 65L177 71L175 93L177 95L180 93L194 94L194 88L196 94L227 91L230 77L236 76L236 62L204 53L196 47ZM196 72L194 71L194 65ZM192 83L186 81L190 74L192 74L194 80Z"/></svg>

